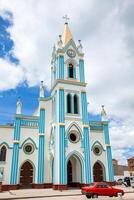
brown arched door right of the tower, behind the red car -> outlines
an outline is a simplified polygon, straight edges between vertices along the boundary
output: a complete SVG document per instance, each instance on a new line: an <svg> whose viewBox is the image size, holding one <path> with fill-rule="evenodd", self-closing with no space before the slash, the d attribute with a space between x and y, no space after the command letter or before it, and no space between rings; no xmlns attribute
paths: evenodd
<svg viewBox="0 0 134 200"><path fill-rule="evenodd" d="M95 182L104 181L104 166L100 162L96 162L93 167L93 176Z"/></svg>

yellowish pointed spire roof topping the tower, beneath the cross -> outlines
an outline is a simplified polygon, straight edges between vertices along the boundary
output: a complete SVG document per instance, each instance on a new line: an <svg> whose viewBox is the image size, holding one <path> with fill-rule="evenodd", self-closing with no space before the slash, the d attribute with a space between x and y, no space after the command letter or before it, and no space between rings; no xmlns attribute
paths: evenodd
<svg viewBox="0 0 134 200"><path fill-rule="evenodd" d="M68 27L68 23L66 22L64 25L64 30L62 34L62 42L63 46L66 46L66 44L73 38L72 33Z"/></svg>

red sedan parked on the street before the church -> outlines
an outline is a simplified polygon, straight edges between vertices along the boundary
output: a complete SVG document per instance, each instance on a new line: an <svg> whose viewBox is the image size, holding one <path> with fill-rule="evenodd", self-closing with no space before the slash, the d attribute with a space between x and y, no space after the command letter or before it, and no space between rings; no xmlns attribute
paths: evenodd
<svg viewBox="0 0 134 200"><path fill-rule="evenodd" d="M98 196L117 197L119 195L124 195L123 190L114 188L105 182L95 182L90 186L83 187L81 192L86 195L88 199L91 197L97 198Z"/></svg>

